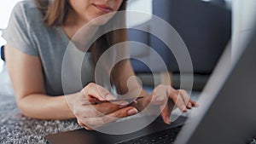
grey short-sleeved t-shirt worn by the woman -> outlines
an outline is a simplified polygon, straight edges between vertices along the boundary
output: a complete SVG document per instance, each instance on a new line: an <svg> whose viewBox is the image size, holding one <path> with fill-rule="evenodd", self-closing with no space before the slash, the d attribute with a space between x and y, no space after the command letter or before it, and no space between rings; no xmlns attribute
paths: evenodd
<svg viewBox="0 0 256 144"><path fill-rule="evenodd" d="M11 14L9 25L3 31L3 38L15 49L27 55L38 56L43 65L44 86L47 95L63 95L62 82L65 81L67 93L77 92L82 89L82 84L88 84L94 79L93 62L90 53L84 56L82 65L83 77L80 85L69 84L78 72L71 70L62 74L62 60L65 55L69 38L61 27L44 26L42 15L31 1L17 3ZM76 55L73 55L76 57ZM61 79L62 77L62 79ZM67 86L69 84L69 86Z"/></svg>

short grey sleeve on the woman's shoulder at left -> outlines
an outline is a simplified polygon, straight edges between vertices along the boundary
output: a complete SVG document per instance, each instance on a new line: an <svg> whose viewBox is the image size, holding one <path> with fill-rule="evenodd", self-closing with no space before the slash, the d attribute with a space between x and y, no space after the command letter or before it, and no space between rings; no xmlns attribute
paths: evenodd
<svg viewBox="0 0 256 144"><path fill-rule="evenodd" d="M17 3L2 37L15 49L20 49L27 55L38 55L38 49L32 39L31 23L28 20L29 10L32 9L26 9L23 2Z"/></svg>

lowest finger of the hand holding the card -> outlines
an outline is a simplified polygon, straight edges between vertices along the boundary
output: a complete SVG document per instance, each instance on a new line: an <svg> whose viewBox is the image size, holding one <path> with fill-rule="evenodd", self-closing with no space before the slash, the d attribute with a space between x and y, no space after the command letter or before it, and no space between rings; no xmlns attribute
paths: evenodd
<svg viewBox="0 0 256 144"><path fill-rule="evenodd" d="M135 107L125 107L100 118L84 118L84 124L91 129L96 129L104 124L111 123L119 118L125 118L137 114Z"/></svg>

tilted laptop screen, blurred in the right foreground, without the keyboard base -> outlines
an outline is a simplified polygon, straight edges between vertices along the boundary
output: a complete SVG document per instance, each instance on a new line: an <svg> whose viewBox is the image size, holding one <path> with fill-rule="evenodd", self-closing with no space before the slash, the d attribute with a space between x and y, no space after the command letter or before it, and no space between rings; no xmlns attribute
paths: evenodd
<svg viewBox="0 0 256 144"><path fill-rule="evenodd" d="M247 9L252 8L252 4L256 6L255 1L250 2L254 3L239 3L242 7L251 4ZM241 17L247 14L239 11L246 9L236 10L238 11L233 13ZM241 28L235 24L238 26L237 31L243 31L235 33L240 38L233 43L241 40L246 42L240 44L236 55L231 54L234 54L233 46L237 45L227 47L201 94L198 101L201 107L191 112L191 118L185 124L182 135L177 137L177 143L247 143L255 138L256 33L253 31L254 20L248 21L252 23L242 26L250 26L252 29ZM246 33L247 37L241 37Z"/></svg>

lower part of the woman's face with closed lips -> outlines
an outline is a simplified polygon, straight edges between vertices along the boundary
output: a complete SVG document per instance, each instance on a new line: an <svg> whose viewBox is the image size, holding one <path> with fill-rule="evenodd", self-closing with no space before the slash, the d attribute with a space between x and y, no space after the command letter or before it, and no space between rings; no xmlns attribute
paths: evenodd
<svg viewBox="0 0 256 144"><path fill-rule="evenodd" d="M69 0L71 7L78 19L85 23L94 20L103 14L115 12L119 9L123 0ZM105 20L96 20L97 25L105 24L111 17Z"/></svg>

